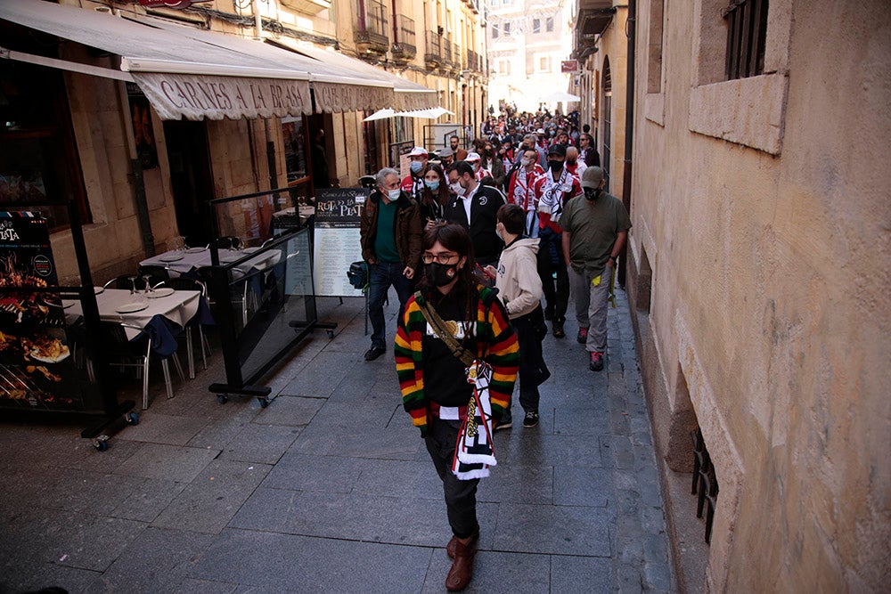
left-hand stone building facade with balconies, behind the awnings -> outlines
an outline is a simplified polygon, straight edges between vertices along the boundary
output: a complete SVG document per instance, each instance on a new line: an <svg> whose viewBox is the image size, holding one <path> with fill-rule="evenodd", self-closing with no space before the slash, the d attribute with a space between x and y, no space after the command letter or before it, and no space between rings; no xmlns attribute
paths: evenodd
<svg viewBox="0 0 891 594"><path fill-rule="evenodd" d="M455 126L476 126L484 117L483 21L471 0L184 0L175 8L153 0L63 0L61 6L10 0L4 6L0 45L12 54L0 60L0 77L14 101L4 107L12 124L0 129L0 176L16 189L3 195L20 194L27 185L49 198L74 199L86 222L96 282L132 273L149 251L172 247L177 236L206 240L202 208L209 199L284 186L312 197L325 184L317 179L321 169L313 167L319 130L330 183L355 186L361 175L398 165L395 145L423 144L424 125L436 121L364 122L376 110L441 106L455 116L439 119ZM72 12L49 10L56 8L78 9L91 27L95 18L107 19L108 30L100 26L93 38L85 37L85 28L66 28ZM26 13L33 20L21 16ZM127 28L119 24L124 20ZM138 52L139 45L128 44L126 35L115 38L116 31L131 30L132 21L159 28L151 53L162 59L151 66L148 60L128 62L127 50ZM206 59L192 51L198 46L208 52ZM227 55L236 53L238 63L229 63ZM306 66L307 76L297 80L290 69L298 66L289 58L275 63L285 54L319 68ZM290 112L270 104L268 113L217 118L199 109L167 119L156 98L133 82L136 73L143 80L150 76L141 69L166 69L170 77L198 71L217 82L237 74L249 85L270 64L276 70L268 80L281 74L306 92ZM251 69L254 74L244 74ZM356 84L349 84L350 77ZM331 89L335 100L325 103L323 90ZM39 183L15 182L22 172ZM68 278L76 273L70 232L64 221L54 229L54 256L61 277Z"/></svg>

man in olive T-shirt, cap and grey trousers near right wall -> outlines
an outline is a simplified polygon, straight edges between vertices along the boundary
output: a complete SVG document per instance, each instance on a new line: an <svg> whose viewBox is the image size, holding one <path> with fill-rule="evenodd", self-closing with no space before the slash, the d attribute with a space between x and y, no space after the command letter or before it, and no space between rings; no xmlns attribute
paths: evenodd
<svg viewBox="0 0 891 594"><path fill-rule="evenodd" d="M616 258L625 248L631 218L622 200L603 191L601 167L582 174L583 197L570 199L560 217L563 256L576 302L578 336L588 351L588 367L603 369L607 350L607 303Z"/></svg>

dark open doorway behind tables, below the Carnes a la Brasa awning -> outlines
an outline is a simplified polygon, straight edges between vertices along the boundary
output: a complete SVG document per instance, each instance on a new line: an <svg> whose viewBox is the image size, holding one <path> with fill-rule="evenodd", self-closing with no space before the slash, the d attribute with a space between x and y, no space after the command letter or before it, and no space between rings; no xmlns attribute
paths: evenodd
<svg viewBox="0 0 891 594"><path fill-rule="evenodd" d="M164 122L170 165L170 189L176 207L176 226L190 246L203 246L213 235L205 205L214 195L210 170L208 128L202 120Z"/></svg>

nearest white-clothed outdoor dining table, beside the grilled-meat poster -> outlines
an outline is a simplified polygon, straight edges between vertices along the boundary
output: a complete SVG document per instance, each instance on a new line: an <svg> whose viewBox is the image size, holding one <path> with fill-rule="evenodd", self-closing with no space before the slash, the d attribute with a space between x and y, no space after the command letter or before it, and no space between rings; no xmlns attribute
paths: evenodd
<svg viewBox="0 0 891 594"><path fill-rule="evenodd" d="M152 350L162 357L176 353L176 335L185 328L201 308L201 293L197 290L158 288L149 293L131 293L129 289L97 289L96 305L104 321L118 321L124 326L127 338L133 340L143 333L151 338ZM65 319L73 324L83 315L80 301L62 301ZM207 312L207 306L203 308ZM192 361L191 335L189 338L189 377L195 377Z"/></svg>

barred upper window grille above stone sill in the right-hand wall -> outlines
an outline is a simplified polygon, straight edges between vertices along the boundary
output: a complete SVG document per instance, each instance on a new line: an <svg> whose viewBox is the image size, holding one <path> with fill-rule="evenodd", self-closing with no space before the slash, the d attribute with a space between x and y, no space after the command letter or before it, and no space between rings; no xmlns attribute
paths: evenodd
<svg viewBox="0 0 891 594"><path fill-rule="evenodd" d="M727 21L727 80L764 73L767 9L768 0L735 0L721 12Z"/></svg>

